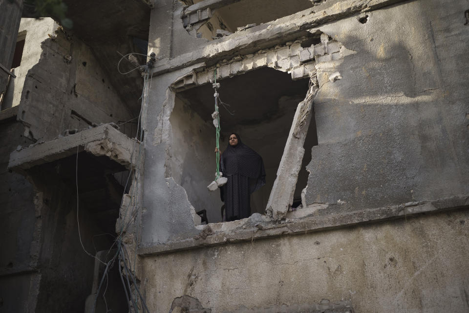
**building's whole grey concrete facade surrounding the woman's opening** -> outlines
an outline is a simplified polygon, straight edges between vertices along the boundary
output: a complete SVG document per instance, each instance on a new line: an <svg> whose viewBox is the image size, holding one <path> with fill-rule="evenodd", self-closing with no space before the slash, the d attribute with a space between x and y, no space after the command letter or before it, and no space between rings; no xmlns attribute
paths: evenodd
<svg viewBox="0 0 469 313"><path fill-rule="evenodd" d="M469 191L467 3L397 2L376 7L361 1L325 1L318 9L320 17L299 14L293 22L262 25L213 44L182 36L173 18L174 37L165 37L171 49L162 54L169 59L155 70L160 75L149 92L153 105L145 126L146 211L140 251L146 254L138 275L146 281L150 310L323 312L343 305L339 312L352 307L354 312L468 311L467 200L460 210L452 207L459 204L448 204L443 207L453 210L400 220L380 221L392 216L367 210L406 212L405 202L464 198ZM350 13L354 10L356 14ZM161 39L151 34L164 22L152 23L150 46ZM202 227L192 226L184 189L165 176L168 152L175 149L169 139L170 132L176 132L171 130L175 123L170 125L175 101L171 84L181 77L196 84L191 77L198 78L217 62L229 63L220 59L285 45L288 36L292 41L306 36L305 29L316 39L322 33L321 39L330 36L349 49L341 59L327 53L315 59L319 145L311 149L305 200L330 205L311 210L308 223L324 216L340 220L344 212L374 222L353 225L352 219L347 226L330 224L335 229L314 233L306 231L304 222L304 234L289 229L299 227L305 221L301 219L295 226L286 221L272 223L272 228L261 224L264 235L259 237L264 239L256 241L261 231L254 223L264 223L256 216L256 221L212 225L200 232ZM275 43L269 46L269 41ZM285 124L289 128L291 122ZM260 154L269 153L261 138L243 140ZM411 212L415 204L409 205ZM297 235L284 236L278 230L278 237L265 238L277 226ZM252 240L246 235L249 227L254 228ZM242 236L236 238L230 229Z"/></svg>

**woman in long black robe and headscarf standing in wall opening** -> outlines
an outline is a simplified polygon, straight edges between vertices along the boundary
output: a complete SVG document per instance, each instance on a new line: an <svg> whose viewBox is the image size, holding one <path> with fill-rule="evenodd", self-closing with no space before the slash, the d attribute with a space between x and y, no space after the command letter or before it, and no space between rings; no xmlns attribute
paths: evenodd
<svg viewBox="0 0 469 313"><path fill-rule="evenodd" d="M226 185L220 187L226 221L251 216L250 195L265 185L262 157L243 144L238 134L233 133L221 155L220 168L223 177L228 179Z"/></svg>

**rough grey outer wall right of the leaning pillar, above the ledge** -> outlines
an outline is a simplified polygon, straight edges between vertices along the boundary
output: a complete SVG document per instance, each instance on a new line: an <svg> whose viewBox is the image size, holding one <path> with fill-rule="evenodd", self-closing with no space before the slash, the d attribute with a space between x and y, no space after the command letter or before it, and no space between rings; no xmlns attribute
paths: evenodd
<svg viewBox="0 0 469 313"><path fill-rule="evenodd" d="M320 26L356 53L316 65L307 204L342 211L468 194L465 10L411 1Z"/></svg>

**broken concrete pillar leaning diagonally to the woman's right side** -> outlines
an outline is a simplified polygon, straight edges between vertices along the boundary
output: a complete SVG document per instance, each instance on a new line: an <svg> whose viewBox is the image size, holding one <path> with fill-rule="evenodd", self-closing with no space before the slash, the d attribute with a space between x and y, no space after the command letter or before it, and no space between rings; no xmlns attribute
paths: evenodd
<svg viewBox="0 0 469 313"><path fill-rule="evenodd" d="M316 79L315 81L317 83ZM276 221L285 217L288 208L293 203L293 194L304 155L304 140L313 115L313 100L318 89L316 84L312 85L306 98L298 104L283 156L278 165L277 179L270 192L266 208L267 214Z"/></svg>

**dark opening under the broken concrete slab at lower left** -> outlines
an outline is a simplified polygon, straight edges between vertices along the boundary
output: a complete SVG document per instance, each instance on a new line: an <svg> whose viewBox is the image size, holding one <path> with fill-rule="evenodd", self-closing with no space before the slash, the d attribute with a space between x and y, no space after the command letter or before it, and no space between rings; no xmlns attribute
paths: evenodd
<svg viewBox="0 0 469 313"><path fill-rule="evenodd" d="M29 170L38 189L35 205L44 212L41 218L46 227L41 230L41 236L46 240L41 253L45 259L54 259L47 279L41 281L41 291L50 292L43 295L40 292L38 297L38 305L47 308L47 312L79 311L80 308L83 311L86 296L90 294L89 299L94 303L92 292L103 277L97 274L102 273L105 266L101 265L100 272L95 272L99 263L86 255L84 249L102 260L110 260L115 254L115 250L110 249L114 248L118 236L116 219L124 186L114 174L125 170L107 156L86 152ZM58 283L64 273L68 273L74 284ZM107 287L103 287L100 294L106 289L109 311L100 296L96 312L127 312L118 267L110 268L103 286ZM69 310L72 307L78 309Z"/></svg>

